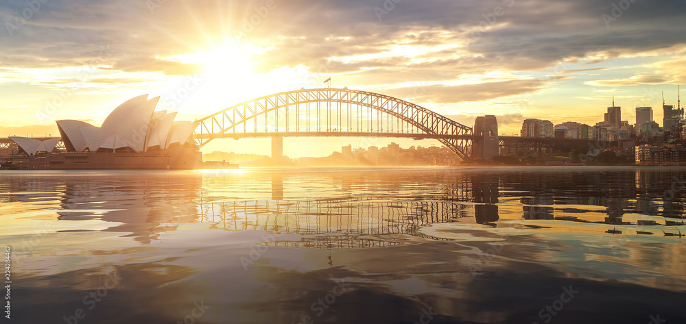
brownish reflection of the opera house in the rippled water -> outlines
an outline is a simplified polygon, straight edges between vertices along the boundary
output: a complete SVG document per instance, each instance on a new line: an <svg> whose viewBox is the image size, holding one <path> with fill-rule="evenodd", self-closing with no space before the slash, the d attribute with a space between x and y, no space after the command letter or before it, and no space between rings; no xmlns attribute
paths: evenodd
<svg viewBox="0 0 686 324"><path fill-rule="evenodd" d="M197 221L195 200L201 181L197 173L174 173L170 177L169 173L140 171L75 171L47 177L22 174L8 177L3 186L8 192L16 192L7 197L25 204L26 209L41 208L41 201L53 201L57 196L58 220L117 223L103 231L130 232L127 236L149 243L159 234L175 230L176 223ZM27 191L30 195L24 194Z"/></svg>

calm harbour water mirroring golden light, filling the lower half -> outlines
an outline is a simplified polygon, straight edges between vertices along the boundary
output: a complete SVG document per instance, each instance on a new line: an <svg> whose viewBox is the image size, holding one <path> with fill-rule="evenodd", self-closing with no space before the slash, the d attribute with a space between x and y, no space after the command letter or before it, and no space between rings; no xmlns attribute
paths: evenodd
<svg viewBox="0 0 686 324"><path fill-rule="evenodd" d="M684 170L0 171L6 322L686 323Z"/></svg>

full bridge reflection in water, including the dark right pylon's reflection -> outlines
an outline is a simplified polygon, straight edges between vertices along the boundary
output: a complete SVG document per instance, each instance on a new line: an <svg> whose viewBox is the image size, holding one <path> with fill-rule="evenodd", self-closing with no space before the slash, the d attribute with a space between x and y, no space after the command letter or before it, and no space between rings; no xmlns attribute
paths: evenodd
<svg viewBox="0 0 686 324"><path fill-rule="evenodd" d="M272 245L289 247L373 247L399 245L428 236L418 227L454 221L492 224L498 221L497 179L448 181L434 195L403 197L393 194L355 195L320 199L284 199L284 175L271 175L271 199L203 203L203 221L231 231L262 230L299 235ZM342 190L351 190L356 179L342 177ZM439 179L444 182L447 178ZM401 186L386 188L390 192Z"/></svg>

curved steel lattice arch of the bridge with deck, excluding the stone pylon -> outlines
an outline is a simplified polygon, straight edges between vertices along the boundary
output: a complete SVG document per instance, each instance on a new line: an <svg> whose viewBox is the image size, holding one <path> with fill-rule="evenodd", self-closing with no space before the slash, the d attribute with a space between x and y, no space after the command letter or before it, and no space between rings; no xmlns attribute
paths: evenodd
<svg viewBox="0 0 686 324"><path fill-rule="evenodd" d="M200 147L215 138L414 137L435 138L466 159L473 138L471 127L414 103L347 88L279 92L233 105L198 122L193 138L200 141Z"/></svg>

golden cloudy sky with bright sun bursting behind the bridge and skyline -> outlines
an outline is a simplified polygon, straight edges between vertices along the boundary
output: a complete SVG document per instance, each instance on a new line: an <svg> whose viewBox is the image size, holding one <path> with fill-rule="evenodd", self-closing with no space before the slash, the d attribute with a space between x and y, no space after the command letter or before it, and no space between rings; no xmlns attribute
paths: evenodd
<svg viewBox="0 0 686 324"><path fill-rule="evenodd" d="M59 119L99 125L145 93L192 121L328 77L464 125L495 114L508 135L526 118L594 125L613 95L623 120L652 106L661 124L661 92L676 105L686 84L685 21L673 0L2 1L0 136L54 136ZM440 145L286 138L284 153L391 141ZM268 143L203 151L268 154Z"/></svg>

